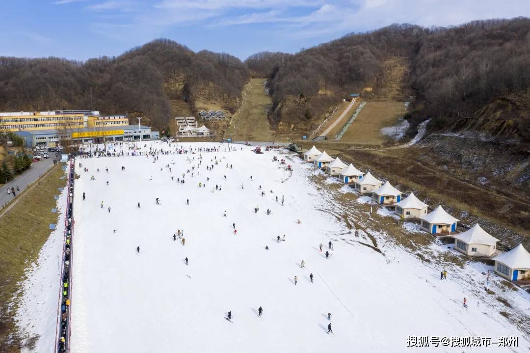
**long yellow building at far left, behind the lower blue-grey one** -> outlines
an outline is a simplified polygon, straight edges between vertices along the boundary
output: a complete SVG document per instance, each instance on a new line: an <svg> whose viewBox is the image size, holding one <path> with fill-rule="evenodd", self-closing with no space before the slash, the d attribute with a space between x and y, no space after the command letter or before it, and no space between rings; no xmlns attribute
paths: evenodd
<svg viewBox="0 0 530 353"><path fill-rule="evenodd" d="M60 128L83 128L89 116L98 115L90 110L54 110L0 113L0 133Z"/></svg>

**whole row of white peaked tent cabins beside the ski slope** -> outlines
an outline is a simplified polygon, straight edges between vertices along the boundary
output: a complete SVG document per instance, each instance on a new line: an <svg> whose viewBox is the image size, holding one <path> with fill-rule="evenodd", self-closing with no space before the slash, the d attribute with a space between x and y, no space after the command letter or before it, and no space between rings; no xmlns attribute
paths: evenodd
<svg viewBox="0 0 530 353"><path fill-rule="evenodd" d="M395 213L403 219L419 219L420 228L431 234L448 234L456 232L458 219L438 206L428 212L429 205L421 201L413 192L403 198L403 193L388 181L382 182L370 172L363 173L353 164L346 164L339 157L333 158L325 151L320 152L315 146L304 153L304 160L327 174L338 177L345 184L355 186L355 190L383 206L394 206ZM497 239L475 224L469 230L455 235L454 248L472 257L492 258L495 260L495 272L509 280L530 279L530 254L519 244L508 252L497 250Z"/></svg>

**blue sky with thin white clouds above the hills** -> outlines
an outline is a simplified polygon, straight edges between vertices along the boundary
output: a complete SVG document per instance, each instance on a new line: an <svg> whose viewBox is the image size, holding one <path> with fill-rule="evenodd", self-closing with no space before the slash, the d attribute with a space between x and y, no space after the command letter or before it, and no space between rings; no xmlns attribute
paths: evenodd
<svg viewBox="0 0 530 353"><path fill-rule="evenodd" d="M530 0L1 0L0 55L86 60L156 38L245 59L392 23L530 16Z"/></svg>

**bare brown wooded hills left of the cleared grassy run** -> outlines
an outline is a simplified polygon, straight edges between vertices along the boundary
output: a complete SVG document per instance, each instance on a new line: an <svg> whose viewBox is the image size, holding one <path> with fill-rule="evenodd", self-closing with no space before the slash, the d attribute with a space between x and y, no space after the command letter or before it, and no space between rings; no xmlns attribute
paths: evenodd
<svg viewBox="0 0 530 353"><path fill-rule="evenodd" d="M167 39L118 57L86 62L60 58L0 57L0 110L99 109L129 113L165 128L178 112L171 100L193 110L200 97L227 110L240 104L249 69L228 54L195 53Z"/></svg>

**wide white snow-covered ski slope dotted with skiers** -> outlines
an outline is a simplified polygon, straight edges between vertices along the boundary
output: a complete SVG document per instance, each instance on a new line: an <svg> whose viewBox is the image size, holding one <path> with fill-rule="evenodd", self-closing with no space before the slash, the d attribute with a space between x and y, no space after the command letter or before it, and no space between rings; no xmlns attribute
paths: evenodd
<svg viewBox="0 0 530 353"><path fill-rule="evenodd" d="M76 158L72 352L398 352L410 351L408 336L519 338L518 348L436 351L530 347L451 273L440 281L438 269L399 247L383 255L341 241L345 228L322 211L326 190L317 189L312 166L299 158L287 157L291 172L272 161L286 158L277 152L185 143L172 144L171 152L193 153L159 154L154 162L144 155L148 148L168 151L169 144L141 144L142 156L126 149L125 157ZM197 150L213 147L220 152ZM121 148L127 145L114 146ZM182 173L184 184L176 180ZM184 245L173 240L177 230ZM328 313L333 335L326 334Z"/></svg>

